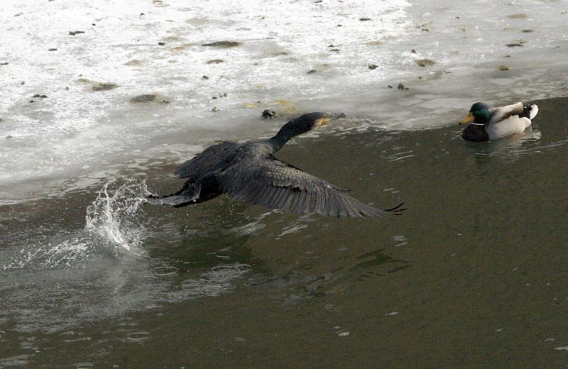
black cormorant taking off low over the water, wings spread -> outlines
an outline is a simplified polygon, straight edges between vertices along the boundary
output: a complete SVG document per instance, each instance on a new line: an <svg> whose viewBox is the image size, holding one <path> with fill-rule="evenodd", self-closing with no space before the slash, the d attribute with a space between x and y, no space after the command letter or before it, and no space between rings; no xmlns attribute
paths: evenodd
<svg viewBox="0 0 568 369"><path fill-rule="evenodd" d="M290 138L344 116L308 113L286 123L268 140L241 144L224 141L211 146L175 170L175 175L187 178L182 189L150 195L147 201L179 207L229 194L236 200L300 214L383 216L400 211L400 205L389 210L366 205L333 184L273 157Z"/></svg>

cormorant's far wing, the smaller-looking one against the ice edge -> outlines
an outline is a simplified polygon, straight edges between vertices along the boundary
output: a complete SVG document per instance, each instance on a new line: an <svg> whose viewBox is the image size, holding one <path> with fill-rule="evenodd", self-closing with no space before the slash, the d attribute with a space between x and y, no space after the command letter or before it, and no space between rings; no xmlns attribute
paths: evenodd
<svg viewBox="0 0 568 369"><path fill-rule="evenodd" d="M203 173L222 170L222 167L225 165L224 160L229 157L229 153L237 145L237 143L231 141L223 141L222 143L217 143L217 145L210 146L180 165L174 174L180 178L189 178L190 182L195 182L197 177Z"/></svg>

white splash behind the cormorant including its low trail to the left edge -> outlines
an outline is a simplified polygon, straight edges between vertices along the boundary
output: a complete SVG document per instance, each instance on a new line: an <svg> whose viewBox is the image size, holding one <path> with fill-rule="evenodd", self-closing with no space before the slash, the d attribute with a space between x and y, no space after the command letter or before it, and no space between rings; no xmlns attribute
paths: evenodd
<svg viewBox="0 0 568 369"><path fill-rule="evenodd" d="M141 255L146 228L138 215L146 192L144 182L107 182L87 207L84 228L29 240L17 251L0 250L0 272L84 268L87 260L121 251Z"/></svg>

